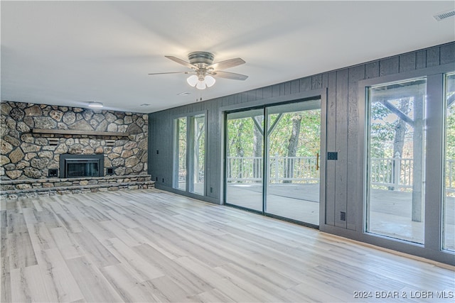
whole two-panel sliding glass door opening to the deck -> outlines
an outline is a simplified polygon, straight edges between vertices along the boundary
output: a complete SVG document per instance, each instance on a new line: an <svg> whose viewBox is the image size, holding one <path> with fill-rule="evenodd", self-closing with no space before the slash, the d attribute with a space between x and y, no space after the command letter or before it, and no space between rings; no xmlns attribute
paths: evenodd
<svg viewBox="0 0 455 303"><path fill-rule="evenodd" d="M229 113L225 204L319 226L320 142L320 99Z"/></svg>

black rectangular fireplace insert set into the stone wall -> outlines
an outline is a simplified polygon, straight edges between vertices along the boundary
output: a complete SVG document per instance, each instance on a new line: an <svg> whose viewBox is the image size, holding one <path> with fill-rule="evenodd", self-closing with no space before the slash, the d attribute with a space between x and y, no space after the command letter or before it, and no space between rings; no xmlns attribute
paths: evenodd
<svg viewBox="0 0 455 303"><path fill-rule="evenodd" d="M60 155L60 178L103 177L105 155Z"/></svg>

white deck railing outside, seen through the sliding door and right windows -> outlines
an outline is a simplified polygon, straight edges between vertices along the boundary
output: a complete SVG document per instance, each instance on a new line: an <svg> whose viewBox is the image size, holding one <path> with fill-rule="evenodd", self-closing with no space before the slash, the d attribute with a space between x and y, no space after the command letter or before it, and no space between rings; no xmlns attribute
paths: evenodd
<svg viewBox="0 0 455 303"><path fill-rule="evenodd" d="M269 158L269 182L318 183L316 157ZM371 184L399 190L412 188L412 158L372 158ZM230 183L262 182L262 157L228 157L227 176ZM455 160L446 160L446 190L455 192Z"/></svg>

